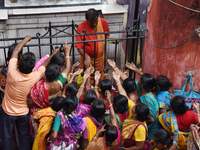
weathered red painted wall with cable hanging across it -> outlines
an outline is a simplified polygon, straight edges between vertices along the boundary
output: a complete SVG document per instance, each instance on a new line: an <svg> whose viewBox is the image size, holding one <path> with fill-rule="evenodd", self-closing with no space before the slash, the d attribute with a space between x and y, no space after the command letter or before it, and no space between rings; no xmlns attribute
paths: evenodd
<svg viewBox="0 0 200 150"><path fill-rule="evenodd" d="M173 0L195 10L200 10L199 0ZM147 14L146 35L150 41L163 47L171 47L190 37L200 27L200 13L192 12L172 4L168 0L153 0ZM173 88L180 89L184 73L194 69L194 90L200 91L200 38L195 35L184 44L162 49L145 41L143 72L155 77L166 75ZM192 72L195 72L192 71Z"/></svg>

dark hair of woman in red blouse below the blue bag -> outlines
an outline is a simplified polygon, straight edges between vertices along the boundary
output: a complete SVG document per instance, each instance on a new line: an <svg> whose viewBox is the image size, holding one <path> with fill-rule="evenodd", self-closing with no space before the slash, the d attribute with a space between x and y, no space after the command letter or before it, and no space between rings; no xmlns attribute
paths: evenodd
<svg viewBox="0 0 200 150"><path fill-rule="evenodd" d="M170 106L176 115L183 115L189 110L189 107L185 104L184 98L181 96L173 97L170 101Z"/></svg>

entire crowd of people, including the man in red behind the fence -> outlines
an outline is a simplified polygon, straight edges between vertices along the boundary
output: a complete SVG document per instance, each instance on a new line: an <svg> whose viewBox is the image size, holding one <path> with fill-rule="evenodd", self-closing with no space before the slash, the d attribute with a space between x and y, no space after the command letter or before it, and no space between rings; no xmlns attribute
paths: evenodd
<svg viewBox="0 0 200 150"><path fill-rule="evenodd" d="M96 10L86 13L89 31L107 22ZM102 23L104 22L104 23ZM104 24L104 25L103 25ZM100 29L101 30L100 30ZM102 37L88 37L101 39ZM59 47L36 62L32 52L22 54L26 36L8 50L1 70L2 149L10 150L13 134L19 150L193 150L198 145L194 128L200 121L199 104L194 109L181 96L174 96L172 83L164 75L156 78L135 64L124 68L136 72L138 81L107 59L113 69L103 69L103 43L76 45L85 62L71 64L70 47ZM77 39L81 41L81 39ZM97 59L93 67L93 59ZM85 70L83 69L83 63ZM78 68L81 64L82 67ZM77 80L77 76L79 76ZM81 79L80 79L81 78Z"/></svg>

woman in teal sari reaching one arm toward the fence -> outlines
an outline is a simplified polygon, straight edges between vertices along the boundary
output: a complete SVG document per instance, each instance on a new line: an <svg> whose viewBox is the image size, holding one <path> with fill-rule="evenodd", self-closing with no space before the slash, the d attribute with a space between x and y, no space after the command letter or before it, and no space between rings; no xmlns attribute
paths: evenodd
<svg viewBox="0 0 200 150"><path fill-rule="evenodd" d="M136 89L139 95L138 103L143 103L149 108L151 119L146 121L148 127L147 140L153 140L153 133L161 127L158 121L158 101L152 93L153 88L155 87L155 78L148 73L143 74L133 63L127 63L126 66L141 76L139 81L136 81Z"/></svg>

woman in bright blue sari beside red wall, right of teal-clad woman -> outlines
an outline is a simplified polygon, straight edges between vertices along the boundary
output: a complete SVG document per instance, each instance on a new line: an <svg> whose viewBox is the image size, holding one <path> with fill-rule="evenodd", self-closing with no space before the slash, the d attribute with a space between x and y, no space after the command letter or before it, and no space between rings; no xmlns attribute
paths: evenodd
<svg viewBox="0 0 200 150"><path fill-rule="evenodd" d="M170 108L170 100L173 97L171 92L172 83L166 76L159 75L156 78L156 99L159 103L160 114L165 113Z"/></svg>

